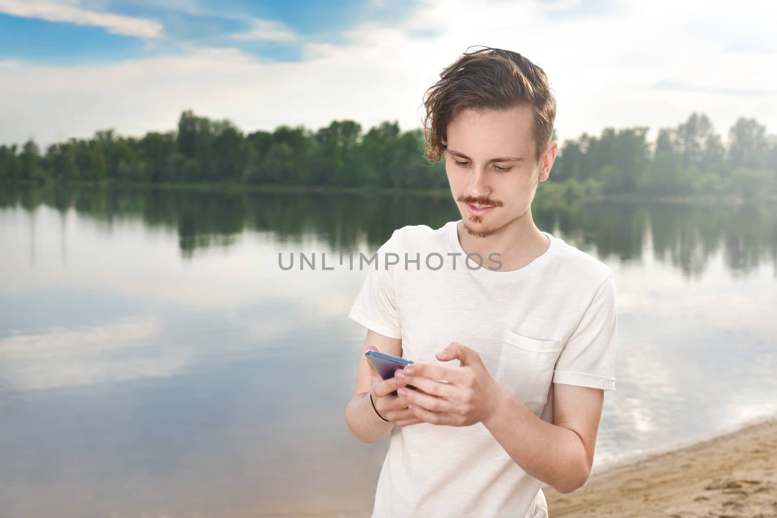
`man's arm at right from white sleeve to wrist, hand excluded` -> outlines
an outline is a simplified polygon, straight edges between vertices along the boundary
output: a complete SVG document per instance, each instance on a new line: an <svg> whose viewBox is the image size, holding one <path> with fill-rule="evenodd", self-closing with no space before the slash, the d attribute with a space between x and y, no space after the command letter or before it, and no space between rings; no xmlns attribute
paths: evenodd
<svg viewBox="0 0 777 518"><path fill-rule="evenodd" d="M553 423L499 385L501 404L483 424L529 475L559 492L573 492L591 475L604 391L615 389L614 363L615 279L610 273L556 360ZM596 387L584 386L589 384Z"/></svg>

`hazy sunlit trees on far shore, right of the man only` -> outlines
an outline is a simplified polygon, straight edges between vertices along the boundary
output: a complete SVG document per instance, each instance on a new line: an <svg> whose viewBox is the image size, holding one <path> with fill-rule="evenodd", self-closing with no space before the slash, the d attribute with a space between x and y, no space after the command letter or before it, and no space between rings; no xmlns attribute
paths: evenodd
<svg viewBox="0 0 777 518"><path fill-rule="evenodd" d="M756 119L737 119L727 144L698 113L659 129L653 143L647 131L607 128L601 136L566 140L551 174L560 181L595 181L609 194L777 195L777 135L768 136Z"/></svg>

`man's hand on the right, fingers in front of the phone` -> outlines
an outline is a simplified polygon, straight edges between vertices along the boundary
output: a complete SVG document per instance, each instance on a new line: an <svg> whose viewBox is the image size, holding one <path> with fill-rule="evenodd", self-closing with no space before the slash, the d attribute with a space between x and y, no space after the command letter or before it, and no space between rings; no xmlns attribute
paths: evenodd
<svg viewBox="0 0 777 518"><path fill-rule="evenodd" d="M451 342L436 356L440 361L458 359L462 365L411 364L395 373L402 385L413 385L426 392L404 386L399 389L413 414L427 423L448 426L471 426L487 420L497 407L500 385L486 370L480 354Z"/></svg>

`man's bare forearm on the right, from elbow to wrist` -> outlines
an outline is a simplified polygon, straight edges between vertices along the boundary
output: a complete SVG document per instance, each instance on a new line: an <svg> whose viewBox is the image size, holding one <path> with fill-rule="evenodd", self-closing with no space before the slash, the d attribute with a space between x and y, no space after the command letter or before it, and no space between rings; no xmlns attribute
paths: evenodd
<svg viewBox="0 0 777 518"><path fill-rule="evenodd" d="M500 402L483 425L529 475L562 493L570 493L588 478L583 441L563 426L543 421L499 385Z"/></svg>

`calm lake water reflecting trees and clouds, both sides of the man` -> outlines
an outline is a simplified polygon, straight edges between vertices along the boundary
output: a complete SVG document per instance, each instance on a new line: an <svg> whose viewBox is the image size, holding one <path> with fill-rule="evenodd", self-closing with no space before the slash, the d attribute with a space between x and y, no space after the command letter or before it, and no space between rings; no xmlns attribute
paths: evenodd
<svg viewBox="0 0 777 518"><path fill-rule="evenodd" d="M389 440L343 414L366 271L277 254L371 255L459 217L450 197L2 187L2 515L369 516ZM535 220L618 283L594 469L777 413L774 209Z"/></svg>

